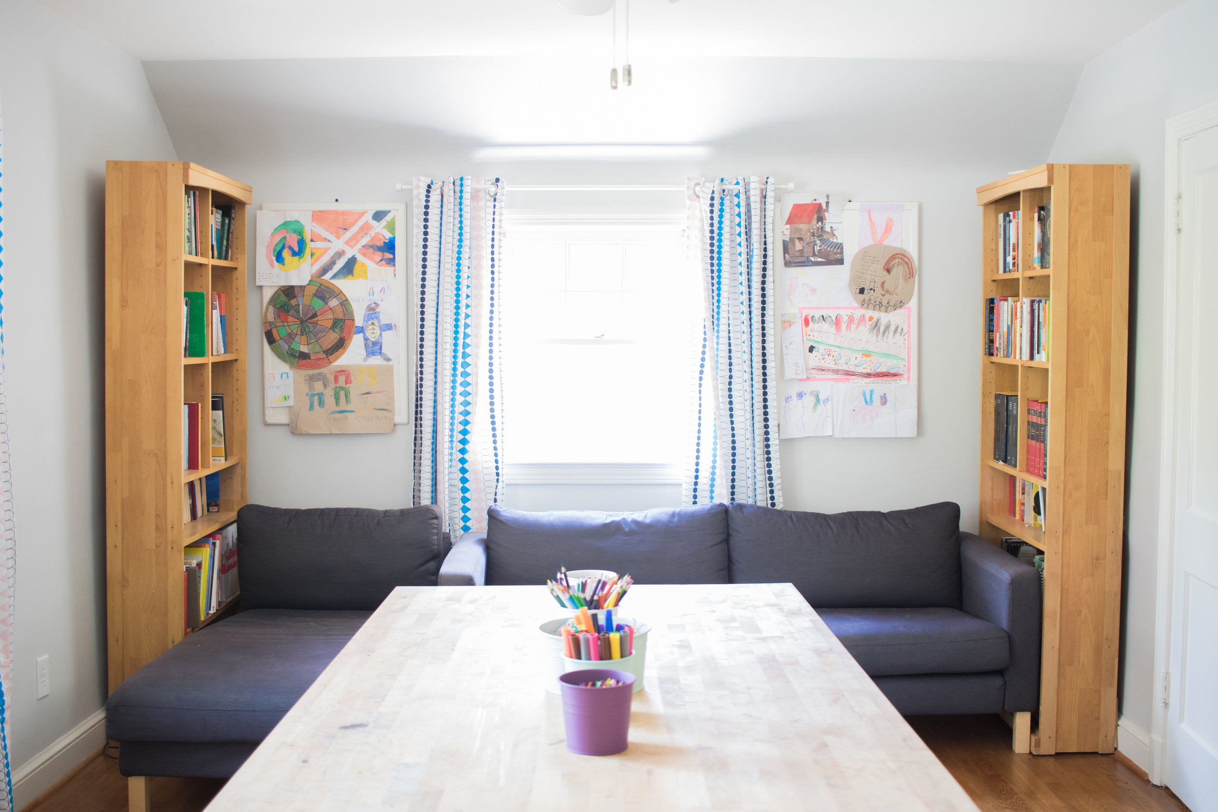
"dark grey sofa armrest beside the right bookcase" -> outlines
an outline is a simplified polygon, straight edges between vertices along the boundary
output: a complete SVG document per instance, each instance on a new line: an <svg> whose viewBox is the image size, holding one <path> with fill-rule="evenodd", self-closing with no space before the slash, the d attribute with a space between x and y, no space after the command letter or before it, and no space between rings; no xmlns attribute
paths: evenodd
<svg viewBox="0 0 1218 812"><path fill-rule="evenodd" d="M1006 629L1009 712L1034 711L1040 694L1040 573L972 533L960 534L963 610Z"/></svg>

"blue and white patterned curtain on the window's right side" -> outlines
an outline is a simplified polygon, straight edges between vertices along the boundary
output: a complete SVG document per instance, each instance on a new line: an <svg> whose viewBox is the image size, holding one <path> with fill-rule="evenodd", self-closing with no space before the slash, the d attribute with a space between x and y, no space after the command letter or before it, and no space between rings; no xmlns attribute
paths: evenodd
<svg viewBox="0 0 1218 812"><path fill-rule="evenodd" d="M782 508L773 178L694 180L688 197L703 330L685 504Z"/></svg>

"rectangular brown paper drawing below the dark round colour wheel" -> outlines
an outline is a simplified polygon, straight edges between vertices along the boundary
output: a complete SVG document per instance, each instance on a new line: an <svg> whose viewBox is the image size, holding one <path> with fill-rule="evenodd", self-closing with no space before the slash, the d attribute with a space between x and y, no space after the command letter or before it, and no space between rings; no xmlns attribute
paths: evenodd
<svg viewBox="0 0 1218 812"><path fill-rule="evenodd" d="M296 370L287 421L294 435L393 431L393 366Z"/></svg>

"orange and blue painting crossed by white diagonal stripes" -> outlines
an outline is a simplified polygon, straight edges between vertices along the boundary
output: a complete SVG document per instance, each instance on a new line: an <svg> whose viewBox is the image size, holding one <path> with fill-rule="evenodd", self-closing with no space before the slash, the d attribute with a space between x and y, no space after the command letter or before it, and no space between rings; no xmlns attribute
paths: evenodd
<svg viewBox="0 0 1218 812"><path fill-rule="evenodd" d="M309 228L313 276L397 278L397 217L390 209L314 211Z"/></svg>

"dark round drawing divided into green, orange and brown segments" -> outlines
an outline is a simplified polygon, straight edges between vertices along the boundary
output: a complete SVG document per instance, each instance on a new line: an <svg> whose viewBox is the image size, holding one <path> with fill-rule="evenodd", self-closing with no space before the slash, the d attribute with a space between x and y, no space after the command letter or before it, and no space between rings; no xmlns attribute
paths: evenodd
<svg viewBox="0 0 1218 812"><path fill-rule="evenodd" d="M356 314L334 282L284 285L270 295L262 321L270 352L295 369L329 366L351 346Z"/></svg>

